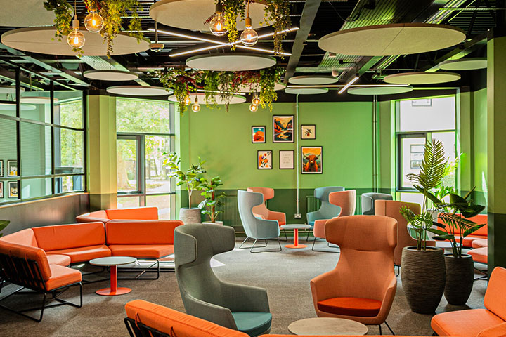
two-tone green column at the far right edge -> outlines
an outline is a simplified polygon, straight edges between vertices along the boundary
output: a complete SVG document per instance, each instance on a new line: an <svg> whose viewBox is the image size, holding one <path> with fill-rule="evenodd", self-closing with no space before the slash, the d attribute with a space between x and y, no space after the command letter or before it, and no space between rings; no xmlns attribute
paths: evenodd
<svg viewBox="0 0 506 337"><path fill-rule="evenodd" d="M506 37L487 44L488 270L506 267Z"/></svg>

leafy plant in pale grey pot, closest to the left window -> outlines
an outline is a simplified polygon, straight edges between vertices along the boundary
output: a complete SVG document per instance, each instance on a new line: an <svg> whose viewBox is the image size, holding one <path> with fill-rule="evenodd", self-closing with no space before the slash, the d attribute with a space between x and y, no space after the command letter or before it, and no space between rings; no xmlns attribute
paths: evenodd
<svg viewBox="0 0 506 337"><path fill-rule="evenodd" d="M200 223L202 221L200 209L198 207L192 207L193 191L199 188L200 176L202 173L206 172L203 166L205 161L202 161L200 157L198 160L197 165L191 164L190 168L186 171L181 170L181 158L176 152L169 153L169 156L164 161L164 164L171 170L169 176L177 179L176 185L185 185L186 190L188 190L188 209L183 207L179 209L179 220L183 221L185 225L189 223Z"/></svg>

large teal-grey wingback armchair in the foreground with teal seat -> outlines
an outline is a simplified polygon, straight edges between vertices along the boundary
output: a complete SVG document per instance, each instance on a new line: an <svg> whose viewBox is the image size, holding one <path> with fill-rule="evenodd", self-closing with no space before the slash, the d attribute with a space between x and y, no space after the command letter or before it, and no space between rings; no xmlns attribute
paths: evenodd
<svg viewBox="0 0 506 337"><path fill-rule="evenodd" d="M259 336L271 331L266 289L221 281L212 256L231 251L235 234L221 225L184 225L174 230L176 279L186 313Z"/></svg>

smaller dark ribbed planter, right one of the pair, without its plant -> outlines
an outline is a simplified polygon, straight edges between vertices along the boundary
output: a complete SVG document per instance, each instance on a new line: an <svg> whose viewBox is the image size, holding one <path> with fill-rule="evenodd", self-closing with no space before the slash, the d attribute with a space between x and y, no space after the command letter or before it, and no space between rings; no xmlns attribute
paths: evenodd
<svg viewBox="0 0 506 337"><path fill-rule="evenodd" d="M474 283L472 256L463 254L460 258L455 258L452 254L445 254L445 264L445 298L450 304L465 305Z"/></svg>

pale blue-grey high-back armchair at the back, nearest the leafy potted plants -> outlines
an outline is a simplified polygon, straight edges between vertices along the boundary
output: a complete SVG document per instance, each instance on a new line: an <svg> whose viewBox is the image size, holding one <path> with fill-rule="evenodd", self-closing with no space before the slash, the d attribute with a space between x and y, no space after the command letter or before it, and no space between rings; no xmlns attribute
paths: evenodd
<svg viewBox="0 0 506 337"><path fill-rule="evenodd" d="M246 239L240 244L240 249L249 248L250 252L259 253L259 251L253 251L258 240L265 241L265 244L264 246L257 246L256 248L265 248L268 239L277 239L279 249L275 251L281 251L281 244L279 242L280 227L278 221L257 218L253 214L253 207L263 202L264 196L261 193L238 190L239 216L242 227L244 227L246 233ZM242 245L249 239L254 240L252 246L243 248Z"/></svg>

